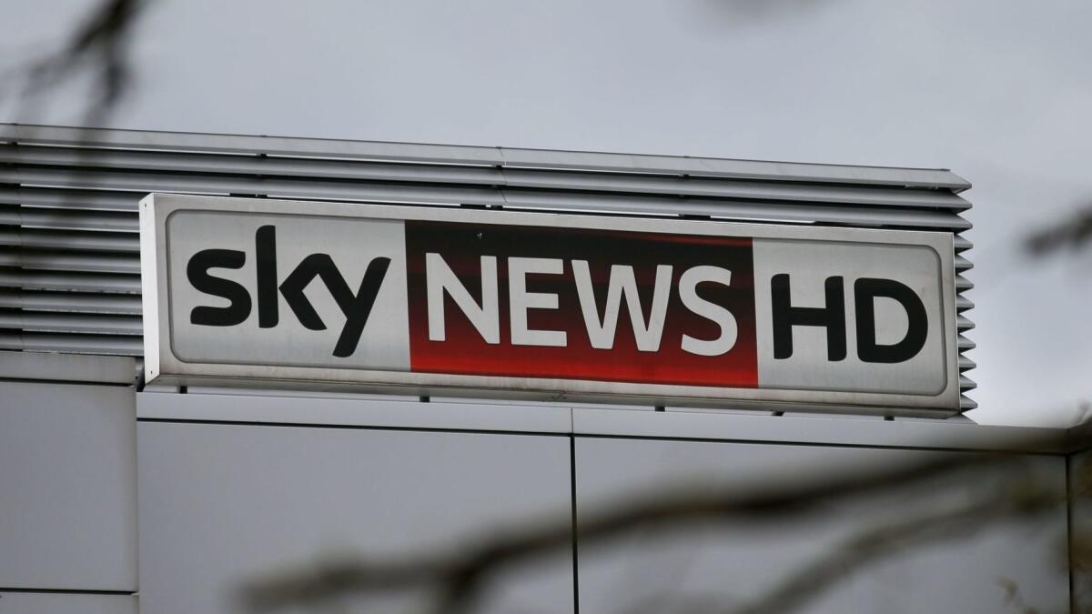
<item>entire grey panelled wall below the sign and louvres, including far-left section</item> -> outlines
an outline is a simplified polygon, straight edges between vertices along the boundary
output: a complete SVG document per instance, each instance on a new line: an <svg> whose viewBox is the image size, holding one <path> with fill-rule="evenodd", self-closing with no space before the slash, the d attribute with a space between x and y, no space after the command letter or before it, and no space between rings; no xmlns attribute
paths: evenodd
<svg viewBox="0 0 1092 614"><path fill-rule="evenodd" d="M633 493L807 482L934 447L1019 448L1029 436L936 421L134 393L132 362L111 361L0 352L0 614L134 613L134 593L145 613L230 612L241 581L285 566L458 552L529 517L565 521L573 504L586 519ZM1066 457L1049 442L1023 446L1040 482L1061 486ZM578 590L585 613L661 611L680 592L716 605L753 599L862 528L968 500L997 477L840 504L818 520L581 539L575 567L562 547L492 579L483 605L571 612ZM1076 530L1092 529L1087 503L1070 510ZM1029 605L1064 612L1066 530L1059 509L946 536L868 565L806 611L1004 611L1004 577ZM1075 585L1087 599L1087 577Z"/></svg>

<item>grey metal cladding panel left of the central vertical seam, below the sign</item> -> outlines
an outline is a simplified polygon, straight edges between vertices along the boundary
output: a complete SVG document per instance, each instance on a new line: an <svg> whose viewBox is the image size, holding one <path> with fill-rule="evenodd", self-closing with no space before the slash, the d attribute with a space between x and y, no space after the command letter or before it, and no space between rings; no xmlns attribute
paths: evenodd
<svg viewBox="0 0 1092 614"><path fill-rule="evenodd" d="M296 400L296 415L312 403ZM245 612L233 598L248 580L357 553L461 551L571 513L566 437L142 422L138 446L143 614ZM474 611L572 612L572 582L559 547L488 578ZM430 588L365 603L425 611Z"/></svg>

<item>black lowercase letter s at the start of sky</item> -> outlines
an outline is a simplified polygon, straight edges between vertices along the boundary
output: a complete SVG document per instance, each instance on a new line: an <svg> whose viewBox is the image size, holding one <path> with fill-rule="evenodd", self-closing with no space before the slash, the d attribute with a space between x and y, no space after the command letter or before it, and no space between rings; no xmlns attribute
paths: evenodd
<svg viewBox="0 0 1092 614"><path fill-rule="evenodd" d="M232 327L250 317L250 294L242 285L209 274L209 269L241 269L247 255L234 249L205 249L190 258L186 278L200 292L230 302L227 307L194 307L190 322L205 327Z"/></svg>

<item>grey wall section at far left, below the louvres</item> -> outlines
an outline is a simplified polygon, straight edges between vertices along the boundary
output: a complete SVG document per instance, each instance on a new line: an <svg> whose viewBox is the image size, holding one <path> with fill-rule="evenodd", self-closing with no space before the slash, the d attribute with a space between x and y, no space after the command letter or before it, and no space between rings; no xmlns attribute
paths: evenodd
<svg viewBox="0 0 1092 614"><path fill-rule="evenodd" d="M133 362L0 354L0 613L134 612Z"/></svg>

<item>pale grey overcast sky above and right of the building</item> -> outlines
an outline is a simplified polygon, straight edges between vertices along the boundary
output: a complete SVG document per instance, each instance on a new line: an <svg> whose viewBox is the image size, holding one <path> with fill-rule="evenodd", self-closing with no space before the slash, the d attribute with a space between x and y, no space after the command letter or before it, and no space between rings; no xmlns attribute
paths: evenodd
<svg viewBox="0 0 1092 614"><path fill-rule="evenodd" d="M119 128L951 168L974 184L980 422L1092 398L1088 0L150 0ZM0 66L90 0L8 0ZM78 88L0 121L79 123Z"/></svg>

